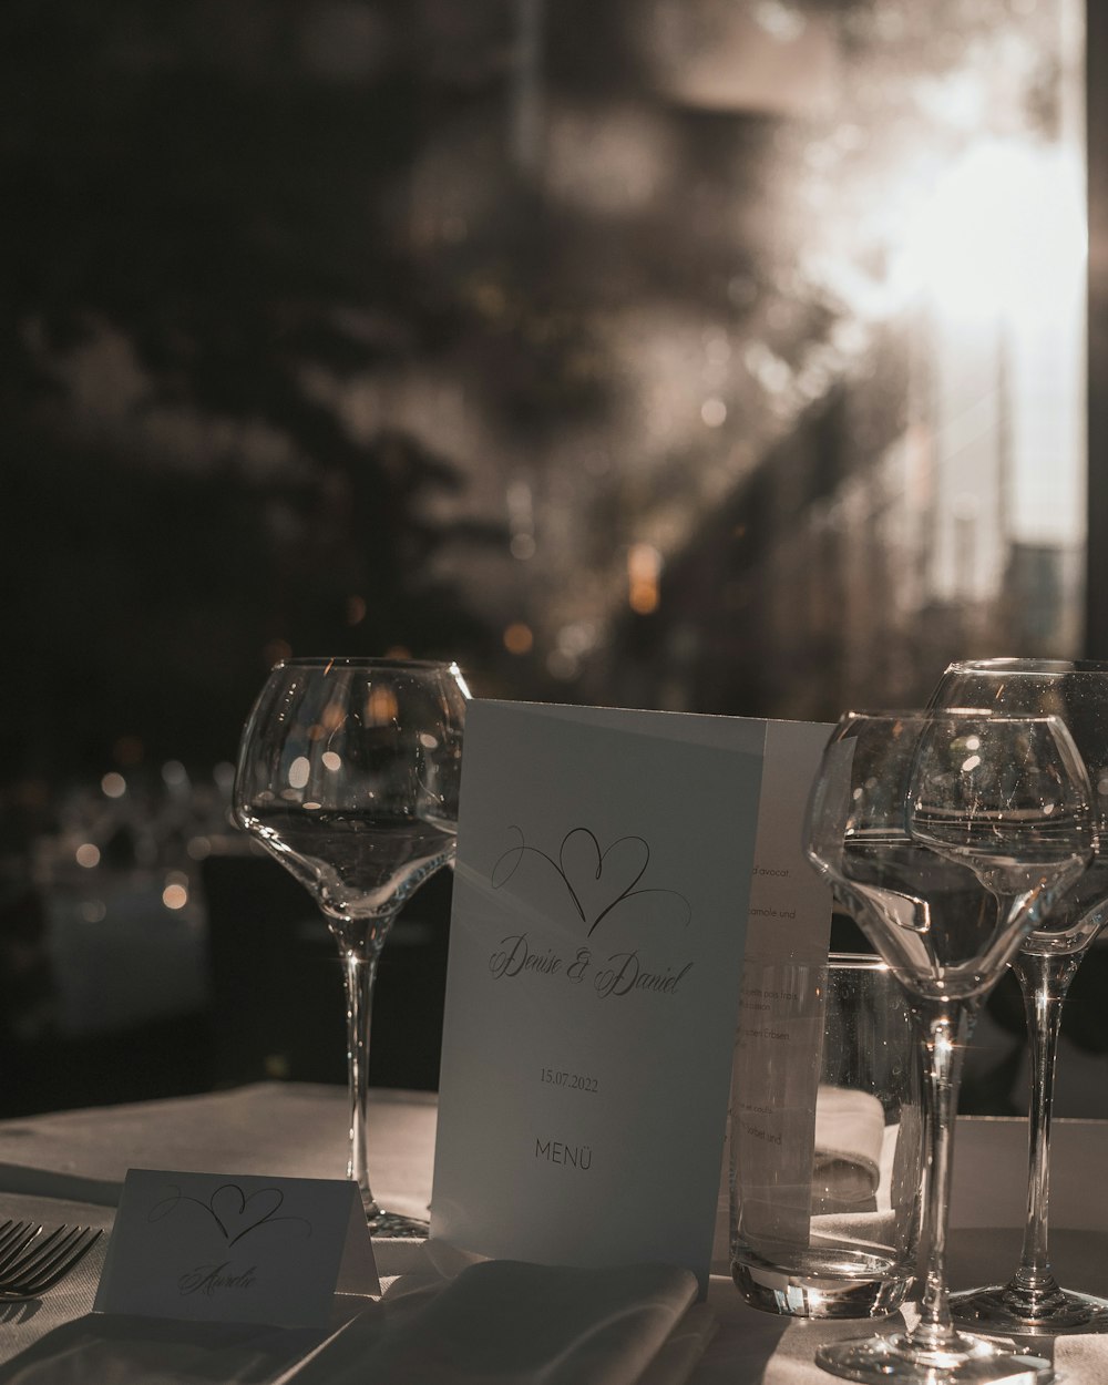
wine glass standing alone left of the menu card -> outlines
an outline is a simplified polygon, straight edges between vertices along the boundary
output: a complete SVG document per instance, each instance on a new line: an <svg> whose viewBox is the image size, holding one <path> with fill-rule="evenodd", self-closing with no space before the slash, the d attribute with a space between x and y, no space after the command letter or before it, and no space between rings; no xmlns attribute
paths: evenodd
<svg viewBox="0 0 1108 1385"><path fill-rule="evenodd" d="M400 906L454 855L468 690L453 663L287 659L242 731L238 824L314 896L346 986L350 1162L370 1228L427 1234L384 1212L366 1154L370 1006Z"/></svg>

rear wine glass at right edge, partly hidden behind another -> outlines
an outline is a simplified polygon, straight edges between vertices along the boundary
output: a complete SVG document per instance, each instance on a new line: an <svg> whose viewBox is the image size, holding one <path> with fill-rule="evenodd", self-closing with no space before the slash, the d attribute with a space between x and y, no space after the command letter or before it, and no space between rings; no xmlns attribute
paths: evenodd
<svg viewBox="0 0 1108 1385"><path fill-rule="evenodd" d="M1050 1263L1050 1118L1062 1006L1089 945L1108 918L1108 663L979 659L951 663L932 705L996 708L1062 717L1094 788L1093 867L1010 963L1024 993L1030 1053L1028 1212L1019 1269L1007 1284L951 1296L954 1317L989 1331L1108 1332L1108 1299L1058 1284ZM1101 849L1102 843L1102 849Z"/></svg>

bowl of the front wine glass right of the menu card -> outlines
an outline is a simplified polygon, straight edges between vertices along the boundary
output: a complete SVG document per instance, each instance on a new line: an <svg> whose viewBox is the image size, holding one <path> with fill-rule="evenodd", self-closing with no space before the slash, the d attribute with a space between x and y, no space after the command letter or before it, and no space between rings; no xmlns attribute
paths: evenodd
<svg viewBox="0 0 1108 1385"><path fill-rule="evenodd" d="M839 722L813 787L807 856L909 989L978 997L1086 871L1086 773L1050 722L967 709ZM1003 897L1019 900L1019 931Z"/></svg>

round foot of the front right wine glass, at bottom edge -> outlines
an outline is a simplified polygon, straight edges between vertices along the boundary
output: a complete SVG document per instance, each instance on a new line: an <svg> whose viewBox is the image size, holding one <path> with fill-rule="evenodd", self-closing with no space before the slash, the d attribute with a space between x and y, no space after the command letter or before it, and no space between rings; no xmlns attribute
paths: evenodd
<svg viewBox="0 0 1108 1385"><path fill-rule="evenodd" d="M816 1364L832 1375L870 1385L1046 1385L1054 1367L1012 1342L958 1334L949 1349L921 1349L907 1332L828 1342Z"/></svg>

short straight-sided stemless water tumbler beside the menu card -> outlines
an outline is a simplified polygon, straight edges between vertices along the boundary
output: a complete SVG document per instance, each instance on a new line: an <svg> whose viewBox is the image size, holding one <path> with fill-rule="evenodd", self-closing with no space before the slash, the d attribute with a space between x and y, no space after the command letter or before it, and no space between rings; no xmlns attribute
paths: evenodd
<svg viewBox="0 0 1108 1385"><path fill-rule="evenodd" d="M789 1317L881 1317L915 1280L920 1065L879 957L742 963L731 1278Z"/></svg>

